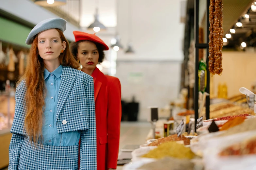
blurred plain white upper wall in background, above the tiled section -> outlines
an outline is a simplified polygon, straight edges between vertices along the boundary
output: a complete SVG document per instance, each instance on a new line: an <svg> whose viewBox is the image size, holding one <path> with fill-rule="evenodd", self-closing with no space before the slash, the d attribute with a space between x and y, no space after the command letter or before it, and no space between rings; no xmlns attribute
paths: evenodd
<svg viewBox="0 0 256 170"><path fill-rule="evenodd" d="M181 0L119 0L117 30L127 46L131 37L135 55L118 53L118 60L182 60L184 24L180 21ZM132 3L132 35L128 34L128 6Z"/></svg>

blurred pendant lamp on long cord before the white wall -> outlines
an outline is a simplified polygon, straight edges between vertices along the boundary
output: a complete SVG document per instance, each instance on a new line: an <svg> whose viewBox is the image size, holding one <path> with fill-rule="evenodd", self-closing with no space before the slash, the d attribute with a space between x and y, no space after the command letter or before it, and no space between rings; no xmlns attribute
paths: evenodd
<svg viewBox="0 0 256 170"><path fill-rule="evenodd" d="M127 50L125 51L125 53L127 53L127 54L132 54L132 53L134 53L134 50L133 50L133 48L132 48L132 41L131 41L131 39L132 39L132 0L129 0L128 1L128 3L129 3L129 6L128 6L128 32L129 32L129 39L128 39L128 48L127 48Z"/></svg>

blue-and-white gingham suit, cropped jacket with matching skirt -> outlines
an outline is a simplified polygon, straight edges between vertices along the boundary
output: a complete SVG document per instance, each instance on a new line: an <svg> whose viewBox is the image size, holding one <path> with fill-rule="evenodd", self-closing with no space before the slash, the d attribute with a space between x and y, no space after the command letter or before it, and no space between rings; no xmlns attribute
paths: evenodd
<svg viewBox="0 0 256 170"><path fill-rule="evenodd" d="M47 145L40 151L35 151L35 149L31 149L30 144L28 145L26 130L24 129L25 94L26 82L23 80L15 93L15 116L10 130L13 135L9 146L9 170L77 169L78 146ZM66 120L67 123L63 124L63 120ZM58 133L81 130L80 169L96 169L94 81L91 76L71 67L63 66L56 126ZM67 155L69 158L61 159ZM24 162L26 156L26 163L19 167L20 162ZM58 157L60 160L56 159Z"/></svg>

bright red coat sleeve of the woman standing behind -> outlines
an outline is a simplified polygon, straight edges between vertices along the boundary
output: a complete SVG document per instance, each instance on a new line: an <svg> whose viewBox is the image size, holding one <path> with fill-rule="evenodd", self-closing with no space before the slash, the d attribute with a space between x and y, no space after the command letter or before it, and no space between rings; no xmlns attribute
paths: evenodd
<svg viewBox="0 0 256 170"><path fill-rule="evenodd" d="M111 83L108 91L108 168L116 169L119 152L121 123L121 84L118 78Z"/></svg>

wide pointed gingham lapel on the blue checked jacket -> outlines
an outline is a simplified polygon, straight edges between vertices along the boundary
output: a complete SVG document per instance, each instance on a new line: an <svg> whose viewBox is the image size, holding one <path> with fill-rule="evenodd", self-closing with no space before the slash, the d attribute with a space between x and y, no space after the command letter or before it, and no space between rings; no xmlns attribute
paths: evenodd
<svg viewBox="0 0 256 170"><path fill-rule="evenodd" d="M62 107L66 102L66 99L73 87L75 80L76 80L76 76L73 76L72 68L63 67L61 79L60 79L60 89L59 89L59 96L58 96L56 120L60 114Z"/></svg>

